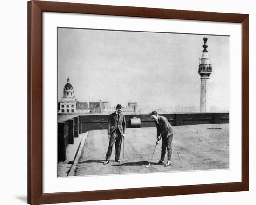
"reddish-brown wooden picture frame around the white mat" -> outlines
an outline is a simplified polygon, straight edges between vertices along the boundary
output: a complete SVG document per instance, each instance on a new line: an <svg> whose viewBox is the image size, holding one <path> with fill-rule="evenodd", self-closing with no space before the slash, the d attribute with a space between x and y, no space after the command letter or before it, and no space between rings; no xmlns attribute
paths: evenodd
<svg viewBox="0 0 256 205"><path fill-rule="evenodd" d="M241 23L242 181L85 192L43 193L42 13L83 13ZM48 204L249 190L249 15L49 1L28 2L28 203Z"/></svg>

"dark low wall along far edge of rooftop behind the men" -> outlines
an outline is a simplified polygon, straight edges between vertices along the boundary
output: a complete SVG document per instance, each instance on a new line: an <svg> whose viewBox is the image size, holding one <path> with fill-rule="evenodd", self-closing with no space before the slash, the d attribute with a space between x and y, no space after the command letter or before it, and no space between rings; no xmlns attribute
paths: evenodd
<svg viewBox="0 0 256 205"><path fill-rule="evenodd" d="M172 113L160 114L168 119L172 126L219 124L229 123L229 112L223 113ZM127 128L131 128L130 118L133 115L125 115ZM141 127L155 127L155 122L150 115L137 115L141 119ZM109 115L83 115L81 116L82 132L94 129L107 129Z"/></svg>

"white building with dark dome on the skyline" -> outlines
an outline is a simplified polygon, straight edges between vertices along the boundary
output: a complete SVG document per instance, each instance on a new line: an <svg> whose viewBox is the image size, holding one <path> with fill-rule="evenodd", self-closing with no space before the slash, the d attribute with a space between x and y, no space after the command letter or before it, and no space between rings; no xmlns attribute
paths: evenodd
<svg viewBox="0 0 256 205"><path fill-rule="evenodd" d="M76 112L76 102L74 97L73 86L69 83L69 77L67 78L67 84L63 88L63 97L60 100L60 113L73 113Z"/></svg>

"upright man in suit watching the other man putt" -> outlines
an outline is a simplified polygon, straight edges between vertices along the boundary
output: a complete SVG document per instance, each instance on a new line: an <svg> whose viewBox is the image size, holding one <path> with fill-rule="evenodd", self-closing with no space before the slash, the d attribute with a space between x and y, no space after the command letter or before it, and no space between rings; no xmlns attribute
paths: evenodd
<svg viewBox="0 0 256 205"><path fill-rule="evenodd" d="M112 147L115 143L115 161L120 162L119 156L122 145L122 138L125 136L126 130L126 122L125 117L121 114L122 106L118 104L115 108L115 112L111 113L108 118L108 151L106 153L106 161L103 163L104 165L109 163Z"/></svg>

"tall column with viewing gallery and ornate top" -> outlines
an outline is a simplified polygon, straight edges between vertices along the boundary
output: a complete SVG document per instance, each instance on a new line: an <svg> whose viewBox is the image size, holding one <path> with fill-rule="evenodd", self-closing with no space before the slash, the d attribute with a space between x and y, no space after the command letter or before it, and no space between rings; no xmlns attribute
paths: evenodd
<svg viewBox="0 0 256 205"><path fill-rule="evenodd" d="M202 57L199 62L198 74L201 79L201 93L200 93L200 112L209 112L209 103L208 103L208 82L212 72L212 66L209 64L209 57L207 54L207 38L204 37L204 49L202 51Z"/></svg>

